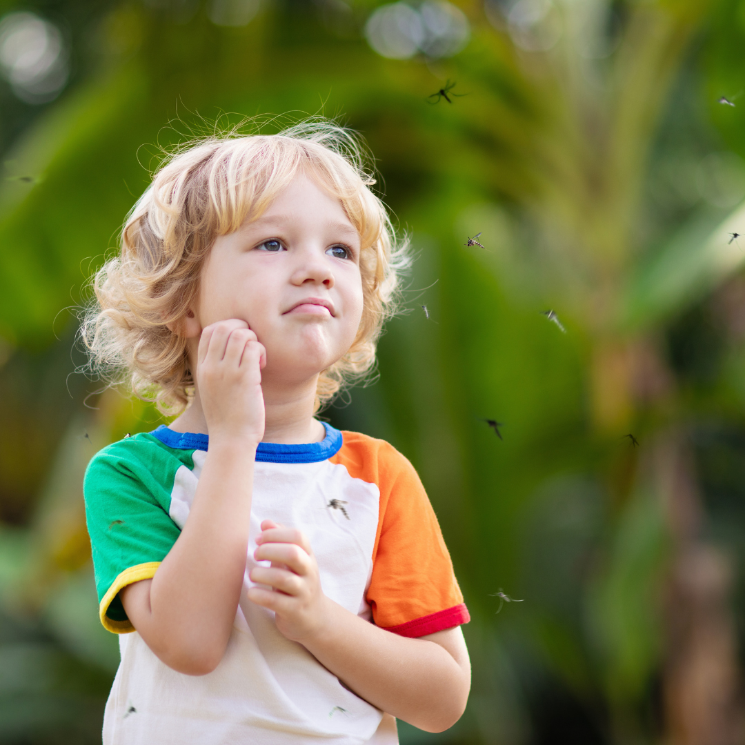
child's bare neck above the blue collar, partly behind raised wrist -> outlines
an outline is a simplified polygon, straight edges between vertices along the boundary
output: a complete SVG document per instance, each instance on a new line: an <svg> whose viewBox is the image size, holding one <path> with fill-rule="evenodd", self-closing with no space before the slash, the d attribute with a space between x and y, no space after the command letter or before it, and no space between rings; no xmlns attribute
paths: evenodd
<svg viewBox="0 0 745 745"><path fill-rule="evenodd" d="M326 437L323 425L313 418L316 395L316 381L292 391L273 390L264 385L264 443L299 445L317 443ZM169 425L177 432L196 432L209 434L199 398L199 390L194 390L194 398L186 411Z"/></svg>

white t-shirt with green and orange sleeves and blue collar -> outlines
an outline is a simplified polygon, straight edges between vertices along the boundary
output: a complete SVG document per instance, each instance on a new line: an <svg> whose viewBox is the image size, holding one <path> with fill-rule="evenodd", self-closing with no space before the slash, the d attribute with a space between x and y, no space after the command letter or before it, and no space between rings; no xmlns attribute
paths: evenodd
<svg viewBox="0 0 745 745"><path fill-rule="evenodd" d="M159 427L104 448L85 479L101 622L121 664L104 745L397 742L392 717L349 691L276 629L246 590L261 521L302 530L323 592L390 632L419 637L469 621L440 526L413 466L383 440L329 425L320 443L256 452L244 588L221 663L168 668L130 623L121 589L153 577L188 519L209 439Z"/></svg>

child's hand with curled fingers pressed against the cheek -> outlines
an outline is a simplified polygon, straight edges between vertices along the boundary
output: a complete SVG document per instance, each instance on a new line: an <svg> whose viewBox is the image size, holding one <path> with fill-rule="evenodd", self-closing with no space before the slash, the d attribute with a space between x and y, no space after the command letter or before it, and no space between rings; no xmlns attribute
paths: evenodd
<svg viewBox="0 0 745 745"><path fill-rule="evenodd" d="M203 329L197 351L196 383L212 442L261 442L261 369L266 361L264 345L245 321L231 318Z"/></svg>

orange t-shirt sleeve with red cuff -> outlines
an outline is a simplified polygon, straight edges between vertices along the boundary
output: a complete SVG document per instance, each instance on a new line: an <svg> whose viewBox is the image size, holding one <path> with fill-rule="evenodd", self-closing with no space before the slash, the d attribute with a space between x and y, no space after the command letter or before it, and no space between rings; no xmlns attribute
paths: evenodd
<svg viewBox="0 0 745 745"><path fill-rule="evenodd" d="M375 624L411 637L467 624L450 554L416 470L384 440L356 432L343 432L343 438L332 463L380 490L367 591Z"/></svg>

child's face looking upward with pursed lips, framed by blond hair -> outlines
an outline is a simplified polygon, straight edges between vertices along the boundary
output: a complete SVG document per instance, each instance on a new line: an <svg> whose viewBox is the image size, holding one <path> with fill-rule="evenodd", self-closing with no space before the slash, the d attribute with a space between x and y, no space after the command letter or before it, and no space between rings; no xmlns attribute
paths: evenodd
<svg viewBox="0 0 745 745"><path fill-rule="evenodd" d="M258 220L215 241L187 333L244 320L267 350L262 379L304 381L355 340L363 305L359 253L360 237L340 201L299 176Z"/></svg>

